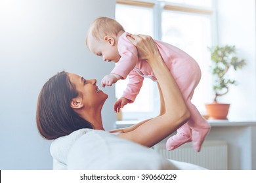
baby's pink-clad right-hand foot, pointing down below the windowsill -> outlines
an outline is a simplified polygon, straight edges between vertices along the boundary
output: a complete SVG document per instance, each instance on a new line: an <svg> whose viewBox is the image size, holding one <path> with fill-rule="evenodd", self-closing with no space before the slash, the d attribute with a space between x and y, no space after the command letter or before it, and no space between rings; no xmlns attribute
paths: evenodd
<svg viewBox="0 0 256 183"><path fill-rule="evenodd" d="M193 147L196 152L200 152L203 141L207 134L209 133L211 127L203 127L203 128L196 128L192 129L192 141Z"/></svg>

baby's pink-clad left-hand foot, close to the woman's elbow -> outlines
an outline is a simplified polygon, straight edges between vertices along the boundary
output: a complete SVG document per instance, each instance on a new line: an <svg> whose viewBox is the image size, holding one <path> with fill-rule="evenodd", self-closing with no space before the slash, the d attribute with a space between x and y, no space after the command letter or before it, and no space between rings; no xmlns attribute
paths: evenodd
<svg viewBox="0 0 256 183"><path fill-rule="evenodd" d="M186 142L192 141L191 135L185 135L183 133L177 133L176 135L173 135L173 137L170 137L168 141L166 142L166 149L167 150L174 150L175 148L178 148L182 144Z"/></svg>

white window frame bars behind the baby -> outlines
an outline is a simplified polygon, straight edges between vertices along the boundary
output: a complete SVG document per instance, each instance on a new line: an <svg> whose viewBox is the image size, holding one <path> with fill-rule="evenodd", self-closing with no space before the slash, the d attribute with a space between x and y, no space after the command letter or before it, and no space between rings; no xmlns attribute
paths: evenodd
<svg viewBox="0 0 256 183"><path fill-rule="evenodd" d="M150 7L153 8L153 37L154 39L161 40L161 14L163 10L169 10L174 12L197 14L200 16L209 16L211 21L211 43L217 40L217 23L216 23L216 5L215 1L212 0L211 7L199 7L194 5L184 5L181 3L171 3L167 1L157 1L157 0L116 0L117 4L120 5L131 5L135 7ZM208 92L208 91L207 91ZM209 89L209 97L211 95L211 90ZM154 96L152 96L154 101L160 101L158 87L154 87ZM141 120L144 118L152 118L157 116L160 111L160 103L155 103L154 112L123 112L123 120ZM200 111L204 113L205 111Z"/></svg>

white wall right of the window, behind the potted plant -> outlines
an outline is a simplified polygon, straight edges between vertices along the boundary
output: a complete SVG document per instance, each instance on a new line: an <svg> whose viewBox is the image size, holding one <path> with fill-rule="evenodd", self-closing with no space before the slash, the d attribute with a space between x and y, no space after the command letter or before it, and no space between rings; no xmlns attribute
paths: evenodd
<svg viewBox="0 0 256 183"><path fill-rule="evenodd" d="M255 0L217 0L218 42L234 44L247 63L233 74L238 86L221 97L231 103L228 119L233 122L256 121L255 9Z"/></svg>

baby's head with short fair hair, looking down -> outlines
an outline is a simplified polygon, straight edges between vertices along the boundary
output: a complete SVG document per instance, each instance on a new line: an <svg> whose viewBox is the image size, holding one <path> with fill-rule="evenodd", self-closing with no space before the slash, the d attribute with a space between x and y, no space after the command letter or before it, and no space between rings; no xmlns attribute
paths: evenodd
<svg viewBox="0 0 256 183"><path fill-rule="evenodd" d="M87 31L85 44L97 56L102 56L104 61L119 61L117 39L125 30L116 20L108 17L99 17Z"/></svg>

